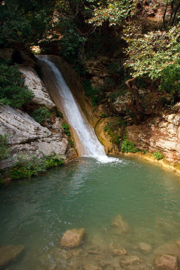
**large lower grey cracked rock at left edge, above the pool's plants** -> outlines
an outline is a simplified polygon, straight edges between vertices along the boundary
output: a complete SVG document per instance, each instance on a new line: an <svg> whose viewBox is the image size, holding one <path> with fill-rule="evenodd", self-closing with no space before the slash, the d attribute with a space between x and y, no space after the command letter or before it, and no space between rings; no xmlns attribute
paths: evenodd
<svg viewBox="0 0 180 270"><path fill-rule="evenodd" d="M58 119L56 121L58 122ZM18 154L65 154L68 141L63 133L59 132L60 124L55 122L54 125L58 126L58 130L52 133L21 110L0 104L0 134L9 134L10 146L10 157L0 162L0 169L10 168L16 162L12 161L12 158Z"/></svg>

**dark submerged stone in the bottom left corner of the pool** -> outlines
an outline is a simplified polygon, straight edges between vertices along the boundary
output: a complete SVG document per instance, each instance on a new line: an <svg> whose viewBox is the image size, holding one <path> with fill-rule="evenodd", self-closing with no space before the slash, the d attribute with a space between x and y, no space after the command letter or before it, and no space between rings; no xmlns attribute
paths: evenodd
<svg viewBox="0 0 180 270"><path fill-rule="evenodd" d="M16 257L22 252L24 246L9 245L6 247L0 247L0 269L4 268L11 261L14 261Z"/></svg>

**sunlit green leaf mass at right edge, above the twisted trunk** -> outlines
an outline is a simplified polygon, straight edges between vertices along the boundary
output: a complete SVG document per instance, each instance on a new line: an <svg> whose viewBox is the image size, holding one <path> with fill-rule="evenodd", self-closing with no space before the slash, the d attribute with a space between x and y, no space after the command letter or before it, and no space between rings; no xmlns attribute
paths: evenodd
<svg viewBox="0 0 180 270"><path fill-rule="evenodd" d="M131 43L126 49L129 55L125 65L133 69L132 75L147 74L151 79L163 76L167 68L180 67L180 24L173 26L169 31L148 32L142 35L136 26L126 29L125 40Z"/></svg>

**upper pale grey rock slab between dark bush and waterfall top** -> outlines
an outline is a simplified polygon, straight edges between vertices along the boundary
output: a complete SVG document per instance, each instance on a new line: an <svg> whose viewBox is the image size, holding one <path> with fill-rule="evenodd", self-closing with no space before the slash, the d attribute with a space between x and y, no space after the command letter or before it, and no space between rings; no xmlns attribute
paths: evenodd
<svg viewBox="0 0 180 270"><path fill-rule="evenodd" d="M55 108L55 104L49 97L49 94L36 71L31 67L19 67L18 69L25 75L24 84L27 85L35 94L31 103L44 106L49 110Z"/></svg>

